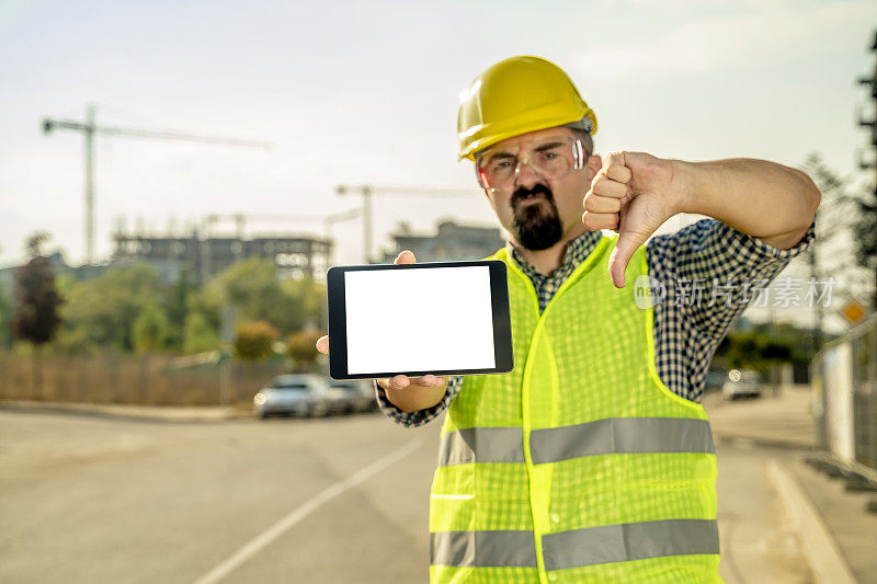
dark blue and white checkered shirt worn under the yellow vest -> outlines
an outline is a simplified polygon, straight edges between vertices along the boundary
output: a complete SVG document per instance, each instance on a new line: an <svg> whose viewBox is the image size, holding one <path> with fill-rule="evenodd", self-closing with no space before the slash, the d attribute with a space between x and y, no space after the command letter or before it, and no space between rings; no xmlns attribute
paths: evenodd
<svg viewBox="0 0 877 584"><path fill-rule="evenodd" d="M793 257L809 247L813 226L811 224L801 241L788 250L773 248L711 218L701 219L675 233L656 236L646 243L649 275L667 290L663 301L653 308L653 332L656 369L668 388L699 402L709 363L725 333L758 297L758 289L765 288ZM588 231L570 241L563 263L548 276L538 273L510 241L505 242L510 256L533 282L540 313L601 237L601 231ZM704 288L703 284L708 286ZM698 289L703 294L699 301L696 300ZM719 289L729 290L722 293L721 300L714 291ZM448 406L459 393L463 379L463 376L448 376L442 401L425 410L402 412L375 383L377 402L394 422L407 427L421 426Z"/></svg>

